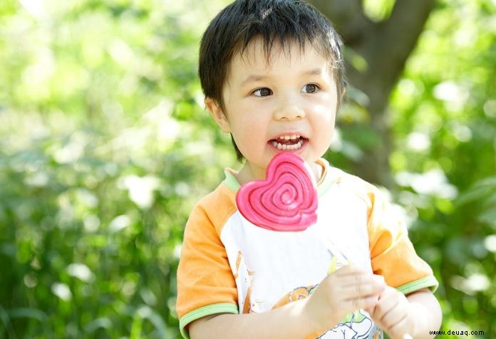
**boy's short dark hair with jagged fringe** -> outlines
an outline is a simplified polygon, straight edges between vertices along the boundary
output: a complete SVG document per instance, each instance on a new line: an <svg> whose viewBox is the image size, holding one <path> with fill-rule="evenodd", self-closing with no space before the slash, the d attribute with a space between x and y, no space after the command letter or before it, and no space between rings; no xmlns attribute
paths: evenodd
<svg viewBox="0 0 496 339"><path fill-rule="evenodd" d="M291 43L298 43L304 51L310 43L334 68L339 106L346 86L341 38L323 14L301 0L237 0L215 16L200 43L198 73L205 97L224 110L222 87L229 64L254 38L262 39L267 61L274 45L289 51ZM242 160L234 139L232 143Z"/></svg>

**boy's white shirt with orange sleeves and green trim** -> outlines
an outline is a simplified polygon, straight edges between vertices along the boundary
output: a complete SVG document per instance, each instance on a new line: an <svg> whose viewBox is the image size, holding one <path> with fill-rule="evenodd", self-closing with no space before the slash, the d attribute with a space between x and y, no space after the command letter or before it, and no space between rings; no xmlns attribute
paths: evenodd
<svg viewBox="0 0 496 339"><path fill-rule="evenodd" d="M435 290L433 271L415 253L401 218L371 184L331 167L317 186L316 224L272 231L250 223L236 207L234 171L197 203L187 221L177 268L180 330L217 313L260 313L306 298L327 274L353 263L408 294ZM358 310L313 338L381 338Z"/></svg>

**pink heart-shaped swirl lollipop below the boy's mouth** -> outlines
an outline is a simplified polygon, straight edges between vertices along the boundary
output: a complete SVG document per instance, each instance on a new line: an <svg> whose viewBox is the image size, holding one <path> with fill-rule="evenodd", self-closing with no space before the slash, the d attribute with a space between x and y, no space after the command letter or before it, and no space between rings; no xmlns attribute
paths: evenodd
<svg viewBox="0 0 496 339"><path fill-rule="evenodd" d="M236 195L239 212L272 231L304 231L317 220L314 176L301 157L278 153L267 167L267 179L247 182Z"/></svg>

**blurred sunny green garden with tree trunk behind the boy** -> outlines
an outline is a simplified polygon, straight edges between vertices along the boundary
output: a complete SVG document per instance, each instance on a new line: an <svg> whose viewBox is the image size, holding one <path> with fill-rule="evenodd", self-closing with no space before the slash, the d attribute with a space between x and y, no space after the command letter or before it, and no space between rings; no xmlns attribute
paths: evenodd
<svg viewBox="0 0 496 339"><path fill-rule="evenodd" d="M326 158L390 192L443 329L496 338L496 1L312 2L347 45ZM185 221L240 167L197 80L228 3L1 0L0 338L179 338Z"/></svg>

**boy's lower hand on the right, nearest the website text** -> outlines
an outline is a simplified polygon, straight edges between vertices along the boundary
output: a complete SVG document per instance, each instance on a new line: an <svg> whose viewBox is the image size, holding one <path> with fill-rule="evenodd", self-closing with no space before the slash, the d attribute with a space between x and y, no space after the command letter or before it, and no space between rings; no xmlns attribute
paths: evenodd
<svg viewBox="0 0 496 339"><path fill-rule="evenodd" d="M391 339L411 338L410 333L415 333L415 316L410 302L396 288L386 286L376 306L366 311Z"/></svg>

